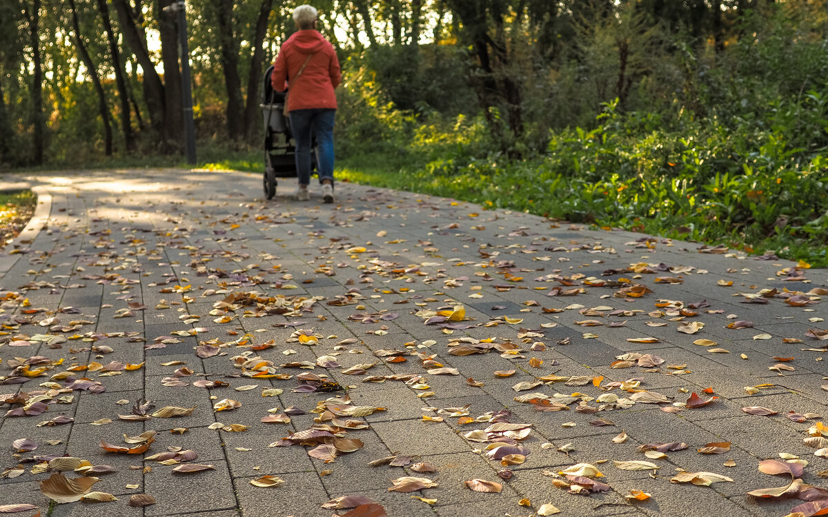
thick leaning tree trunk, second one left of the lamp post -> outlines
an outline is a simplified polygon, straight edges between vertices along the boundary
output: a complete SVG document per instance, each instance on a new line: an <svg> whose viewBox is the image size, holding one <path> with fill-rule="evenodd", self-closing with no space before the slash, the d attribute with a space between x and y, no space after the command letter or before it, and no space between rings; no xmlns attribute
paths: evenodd
<svg viewBox="0 0 828 517"><path fill-rule="evenodd" d="M132 55L135 56L137 64L141 66L143 72L141 84L144 90L144 99L147 101L150 125L160 139L164 131L164 84L161 83L161 77L156 72L152 59L150 59L146 38L142 35L142 29L139 28L140 26L132 14L132 9L127 5L126 0L113 0L113 5L118 13L118 22L121 25L123 39L132 50ZM137 71L135 74L137 76ZM139 113L139 110L136 109L135 111Z"/></svg>

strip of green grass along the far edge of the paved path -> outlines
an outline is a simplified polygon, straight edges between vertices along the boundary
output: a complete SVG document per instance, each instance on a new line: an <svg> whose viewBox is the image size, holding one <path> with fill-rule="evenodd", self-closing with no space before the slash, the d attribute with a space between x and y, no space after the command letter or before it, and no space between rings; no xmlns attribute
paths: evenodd
<svg viewBox="0 0 828 517"><path fill-rule="evenodd" d="M220 146L200 147L200 160L195 168L206 170L243 170L259 172L264 168L261 150L230 151ZM623 202L591 193L590 185L583 182L562 184L541 183L535 180L538 172L531 163L525 166L490 168L483 174L477 170L459 167L446 173L445 167L426 163L422 156L411 153L378 152L338 158L335 177L339 181L368 184L389 189L407 190L479 203L484 208L507 208L544 217L569 218L573 222L591 223L594 227L621 227L676 240L726 244L734 249L761 254L776 251L778 256L792 260L804 260L815 267L828 266L826 247L821 246L819 236L813 241L793 238L785 232L766 237L749 237L738 230L719 233L700 232L695 227L677 229L675 218L647 217L637 208L623 206ZM439 160L438 160L439 161ZM67 169L124 169L145 167L189 167L183 156L121 157L94 164L67 165ZM55 169L51 167L50 169ZM603 187L602 187L603 189ZM599 218L591 218L590 210L604 203ZM614 206L611 206L614 205ZM586 207L585 218L579 218L581 208ZM690 225L691 227L693 225ZM710 226L715 226L710 222Z"/></svg>

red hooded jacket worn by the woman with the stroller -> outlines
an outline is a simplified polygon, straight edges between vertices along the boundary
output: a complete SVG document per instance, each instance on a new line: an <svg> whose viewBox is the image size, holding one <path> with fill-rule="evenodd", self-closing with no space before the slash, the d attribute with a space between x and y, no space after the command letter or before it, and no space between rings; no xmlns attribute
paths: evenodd
<svg viewBox="0 0 828 517"><path fill-rule="evenodd" d="M308 55L312 57L299 74ZM339 73L339 60L336 59L334 45L314 29L296 31L293 36L282 43L282 48L273 64L271 84L277 92L285 90L286 81L291 86L287 96L287 109L329 108L336 109L334 89L342 82Z"/></svg>

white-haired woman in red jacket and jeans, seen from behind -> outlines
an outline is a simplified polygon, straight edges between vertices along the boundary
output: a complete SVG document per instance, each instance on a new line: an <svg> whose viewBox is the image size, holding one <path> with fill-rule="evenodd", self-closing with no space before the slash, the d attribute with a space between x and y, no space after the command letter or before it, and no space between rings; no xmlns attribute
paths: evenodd
<svg viewBox="0 0 828 517"><path fill-rule="evenodd" d="M307 201L310 184L310 140L316 136L319 146L319 178L322 199L334 202L334 116L336 97L334 89L342 82L339 60L334 46L316 30L317 12L314 7L302 5L293 10L296 31L282 44L273 64L273 89L282 92L286 81L290 86L287 111L290 112L291 132L296 141L296 171L299 187L296 199Z"/></svg>

